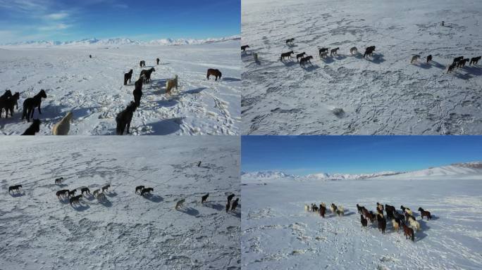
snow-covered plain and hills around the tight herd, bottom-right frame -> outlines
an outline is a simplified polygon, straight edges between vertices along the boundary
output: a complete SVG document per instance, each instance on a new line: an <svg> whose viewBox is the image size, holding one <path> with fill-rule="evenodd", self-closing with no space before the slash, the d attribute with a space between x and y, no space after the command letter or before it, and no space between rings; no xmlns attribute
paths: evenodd
<svg viewBox="0 0 482 270"><path fill-rule="evenodd" d="M371 179L242 176L242 267L246 269L481 269L482 163L451 165ZM304 205L345 207L325 219ZM415 242L391 223L362 228L357 203L428 210Z"/></svg>

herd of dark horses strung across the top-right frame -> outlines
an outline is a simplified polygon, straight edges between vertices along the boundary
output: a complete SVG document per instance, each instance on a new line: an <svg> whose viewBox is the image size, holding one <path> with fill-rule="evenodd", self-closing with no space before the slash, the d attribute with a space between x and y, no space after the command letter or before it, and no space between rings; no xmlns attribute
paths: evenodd
<svg viewBox="0 0 482 270"><path fill-rule="evenodd" d="M286 39L285 41L285 44L287 46L295 46L295 38L291 38L291 39ZM249 45L243 45L241 46L241 51L245 52L246 49L249 48ZM367 57L373 57L373 51L375 51L376 49L376 46L368 46L366 47L365 49L365 52L363 54L363 58L367 58ZM336 47L336 48L333 48L333 49L330 49L330 48L326 48L326 47L323 47L323 48L319 48L318 49L318 56L320 59L325 59L325 58L328 58L328 53L330 53L330 56L337 56L338 55L338 50L340 50L340 47ZM350 55L357 55L358 54L358 49L356 46L353 46L352 48L350 48ZM287 51L285 53L281 53L280 55L280 61L285 61L285 60L291 60L291 57L292 55L295 55L295 52L294 51ZM419 56L418 54L412 56L412 60L410 60L410 63L417 63L418 60L421 58L421 56ZM297 53L296 54L296 60L297 62L299 62L299 65L304 67L305 65L307 64L310 64L311 65L311 59L313 59L313 56L308 56L306 52L302 52L302 53ZM426 63L430 63L431 61L433 60L433 56L432 55L428 55L426 56ZM455 70L455 68L464 68L464 66L469 63L469 65L477 65L478 64L478 60L481 60L481 56L476 56L476 57L472 57L472 58L464 58L464 56L459 56L457 58L455 58L452 62L451 65L449 65L448 69L447 69L447 73L450 73L452 72L453 70ZM256 54L256 61L257 60L257 54Z"/></svg>

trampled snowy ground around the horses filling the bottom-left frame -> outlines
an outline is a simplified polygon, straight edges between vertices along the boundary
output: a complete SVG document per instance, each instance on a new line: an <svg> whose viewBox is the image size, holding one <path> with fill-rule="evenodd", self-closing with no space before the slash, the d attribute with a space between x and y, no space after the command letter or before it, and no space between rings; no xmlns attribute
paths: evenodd
<svg viewBox="0 0 482 270"><path fill-rule="evenodd" d="M239 138L162 138L1 139L0 269L240 269L241 209L225 212L240 194ZM23 191L10 195L13 184ZM105 203L56 198L105 184Z"/></svg>

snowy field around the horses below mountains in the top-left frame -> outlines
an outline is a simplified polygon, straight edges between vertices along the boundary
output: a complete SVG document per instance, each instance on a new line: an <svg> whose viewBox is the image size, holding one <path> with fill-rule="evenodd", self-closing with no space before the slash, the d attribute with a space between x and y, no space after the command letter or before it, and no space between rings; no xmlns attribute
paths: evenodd
<svg viewBox="0 0 482 270"><path fill-rule="evenodd" d="M40 44L42 45L42 44ZM240 133L240 41L182 46L107 44L105 46L4 46L0 49L0 94L20 92L13 118L0 120L1 134L22 134L23 101L47 91L42 101L40 134L73 111L69 134L115 134L116 115L133 101L140 60L152 67L152 82L142 87L140 108L132 119L132 134ZM92 59L89 59L89 54ZM161 62L156 65L156 58ZM223 79L206 80L208 68ZM132 83L123 85L133 70ZM166 95L166 79L179 76L179 91ZM39 117L35 112L34 117Z"/></svg>

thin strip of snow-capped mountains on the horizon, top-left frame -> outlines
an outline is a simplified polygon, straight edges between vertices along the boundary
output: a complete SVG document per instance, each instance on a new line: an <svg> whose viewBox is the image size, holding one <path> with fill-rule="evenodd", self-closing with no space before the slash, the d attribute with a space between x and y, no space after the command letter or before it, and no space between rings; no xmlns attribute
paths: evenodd
<svg viewBox="0 0 482 270"><path fill-rule="evenodd" d="M156 39L152 41L137 41L133 39L81 39L78 41L22 41L4 44L4 46L50 47L50 46L124 46L124 45L190 45L211 44L229 40L239 40L240 36L221 37L217 39Z"/></svg>

